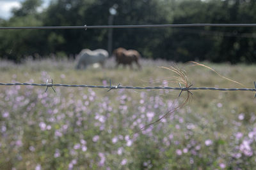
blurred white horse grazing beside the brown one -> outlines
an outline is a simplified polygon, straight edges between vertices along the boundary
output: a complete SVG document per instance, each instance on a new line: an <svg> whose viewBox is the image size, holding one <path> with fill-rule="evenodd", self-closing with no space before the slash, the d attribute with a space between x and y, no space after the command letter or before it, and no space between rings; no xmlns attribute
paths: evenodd
<svg viewBox="0 0 256 170"><path fill-rule="evenodd" d="M77 64L76 69L86 68L88 65L100 63L102 67L104 66L105 60L108 58L108 52L103 49L97 49L97 50L89 50L89 49L83 49L78 55L77 55Z"/></svg>

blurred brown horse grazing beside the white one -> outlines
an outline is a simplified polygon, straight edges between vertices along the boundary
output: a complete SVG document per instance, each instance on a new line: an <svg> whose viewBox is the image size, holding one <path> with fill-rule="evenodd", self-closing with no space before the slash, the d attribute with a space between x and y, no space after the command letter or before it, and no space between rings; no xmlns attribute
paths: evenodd
<svg viewBox="0 0 256 170"><path fill-rule="evenodd" d="M117 48L113 51L113 55L116 58L116 67L119 64L129 65L132 68L132 62L135 62L139 68L141 68L139 60L140 53L136 50L126 50L125 48Z"/></svg>

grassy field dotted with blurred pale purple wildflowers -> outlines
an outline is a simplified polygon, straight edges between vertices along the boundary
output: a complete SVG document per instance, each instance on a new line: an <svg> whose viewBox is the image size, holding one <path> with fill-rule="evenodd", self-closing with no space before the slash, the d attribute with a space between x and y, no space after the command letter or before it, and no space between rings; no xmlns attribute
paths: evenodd
<svg viewBox="0 0 256 170"><path fill-rule="evenodd" d="M75 70L63 59L0 61L0 82L179 87L164 60L143 60L141 71ZM211 64L253 88L255 65ZM193 87L240 88L200 66L185 69ZM186 99L173 90L0 87L0 169L253 169L255 92L193 91L183 108L138 130ZM138 133L136 133L138 132Z"/></svg>

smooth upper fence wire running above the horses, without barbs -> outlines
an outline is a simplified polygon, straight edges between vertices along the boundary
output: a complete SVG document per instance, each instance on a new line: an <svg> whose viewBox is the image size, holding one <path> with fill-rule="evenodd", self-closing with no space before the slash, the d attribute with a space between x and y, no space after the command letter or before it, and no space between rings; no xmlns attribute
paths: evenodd
<svg viewBox="0 0 256 170"><path fill-rule="evenodd" d="M163 27L256 27L256 24L155 24L155 25L83 25L42 27L0 27L1 29L118 29L118 28L163 28Z"/></svg>

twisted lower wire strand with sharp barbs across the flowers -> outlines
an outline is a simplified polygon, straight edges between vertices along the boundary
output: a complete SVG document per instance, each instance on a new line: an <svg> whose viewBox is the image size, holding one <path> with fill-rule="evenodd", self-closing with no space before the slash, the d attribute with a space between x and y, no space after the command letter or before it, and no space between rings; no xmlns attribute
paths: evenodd
<svg viewBox="0 0 256 170"><path fill-rule="evenodd" d="M109 90L116 90L116 89L136 89L136 90L159 90L159 89L163 89L163 90L180 90L180 94L183 91L188 91L189 93L191 93L191 90L220 90L220 91L252 91L252 92L256 92L256 83L254 81L254 86L255 89L248 89L248 88L217 88L217 87L191 87L191 85L189 87L181 87L181 85L179 84L180 87L132 87L132 86L120 86L120 83L117 86L112 86L111 84L111 80L109 80L109 86L102 86L102 85L68 85L68 84L53 84L53 83L48 83L48 80L46 81L45 84L38 84L38 83L0 83L0 85L3 86L12 86L12 85L25 85L25 86L42 86L42 87L52 87L52 89L54 90L53 87L86 87L86 88L97 88L97 89L109 89ZM45 90L45 92L47 92L47 89ZM108 91L109 91L108 90ZM54 90L54 92L56 92ZM180 96L179 94L179 96ZM256 94L255 94L256 97Z"/></svg>

